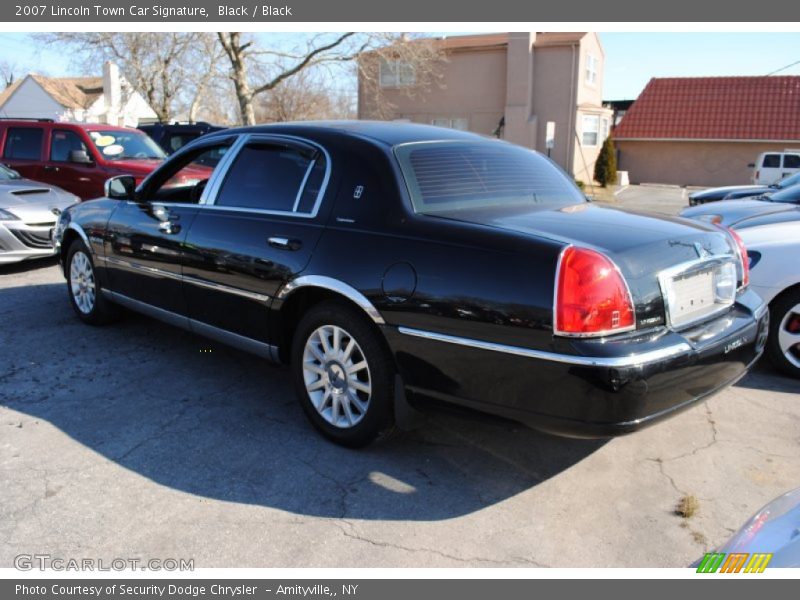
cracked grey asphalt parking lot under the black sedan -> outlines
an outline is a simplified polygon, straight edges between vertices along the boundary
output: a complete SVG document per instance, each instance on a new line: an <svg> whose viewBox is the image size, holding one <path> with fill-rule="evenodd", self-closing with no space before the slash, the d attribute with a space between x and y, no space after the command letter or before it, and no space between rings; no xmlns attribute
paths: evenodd
<svg viewBox="0 0 800 600"><path fill-rule="evenodd" d="M619 201L685 204L653 190ZM800 383L766 364L610 441L435 413L349 451L285 369L145 317L82 325L52 261L0 267L0 332L0 567L679 567L800 485Z"/></svg>

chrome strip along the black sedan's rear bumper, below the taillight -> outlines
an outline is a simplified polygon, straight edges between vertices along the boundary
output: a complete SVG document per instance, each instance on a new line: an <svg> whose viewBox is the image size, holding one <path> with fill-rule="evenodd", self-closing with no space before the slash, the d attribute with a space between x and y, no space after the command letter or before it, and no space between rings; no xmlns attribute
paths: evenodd
<svg viewBox="0 0 800 600"><path fill-rule="evenodd" d="M556 352L546 352L544 350L534 350L532 348L522 348L520 346L507 346L505 344L495 344L494 342L484 342L481 340L457 337L444 333L435 333L433 331L412 329L410 327L398 327L398 331L404 335L434 340L437 342L467 346L469 348L477 348L479 350L490 350L492 352L503 352L505 354L513 354L515 356L523 356L525 358L535 358L537 360L547 360L580 367L609 367L618 369L625 367L638 367L653 362L659 362L673 356L679 356L691 351L692 349L692 347L686 342L680 342L678 344L659 348L658 350L650 350L648 352L642 352L641 354L632 354L631 356L592 357L577 356L573 354L559 354Z"/></svg>

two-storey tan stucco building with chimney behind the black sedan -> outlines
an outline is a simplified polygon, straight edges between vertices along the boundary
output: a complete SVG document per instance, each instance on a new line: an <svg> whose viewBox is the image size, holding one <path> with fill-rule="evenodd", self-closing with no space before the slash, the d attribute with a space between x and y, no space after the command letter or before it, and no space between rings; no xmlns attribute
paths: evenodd
<svg viewBox="0 0 800 600"><path fill-rule="evenodd" d="M413 65L380 59L359 77L358 116L464 129L547 153L547 123L555 123L551 158L589 181L611 124L603 107L605 57L592 32L498 33L437 40L445 56L437 84L409 93ZM377 81L390 108L377 106Z"/></svg>

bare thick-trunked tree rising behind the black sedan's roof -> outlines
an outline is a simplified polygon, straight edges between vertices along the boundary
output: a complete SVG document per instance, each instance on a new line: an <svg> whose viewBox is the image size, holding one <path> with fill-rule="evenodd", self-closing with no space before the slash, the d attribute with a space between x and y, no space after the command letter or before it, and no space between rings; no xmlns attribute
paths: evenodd
<svg viewBox="0 0 800 600"><path fill-rule="evenodd" d="M418 43L418 40L400 34L319 34L307 38L291 51L261 48L252 37L243 36L240 32L219 32L217 37L230 62L229 76L236 93L240 120L245 125L256 123L254 100L257 97L270 94L301 73L320 72L343 63L355 63L360 70L359 57L372 52L380 56L382 52L389 51L387 48L392 48L391 52L395 54L403 52L417 60L424 58L425 66L419 70L425 72L430 70L434 56L441 58L438 46L424 41ZM420 81L429 79L421 77ZM297 87L292 86L291 89L296 90Z"/></svg>

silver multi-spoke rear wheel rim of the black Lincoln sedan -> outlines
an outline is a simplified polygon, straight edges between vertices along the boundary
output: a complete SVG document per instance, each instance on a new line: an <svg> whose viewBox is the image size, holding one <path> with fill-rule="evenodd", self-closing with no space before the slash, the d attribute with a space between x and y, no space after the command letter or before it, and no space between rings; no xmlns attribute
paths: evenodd
<svg viewBox="0 0 800 600"><path fill-rule="evenodd" d="M303 381L314 408L334 427L353 427L367 414L369 365L358 342L341 327L323 325L308 336Z"/></svg>

